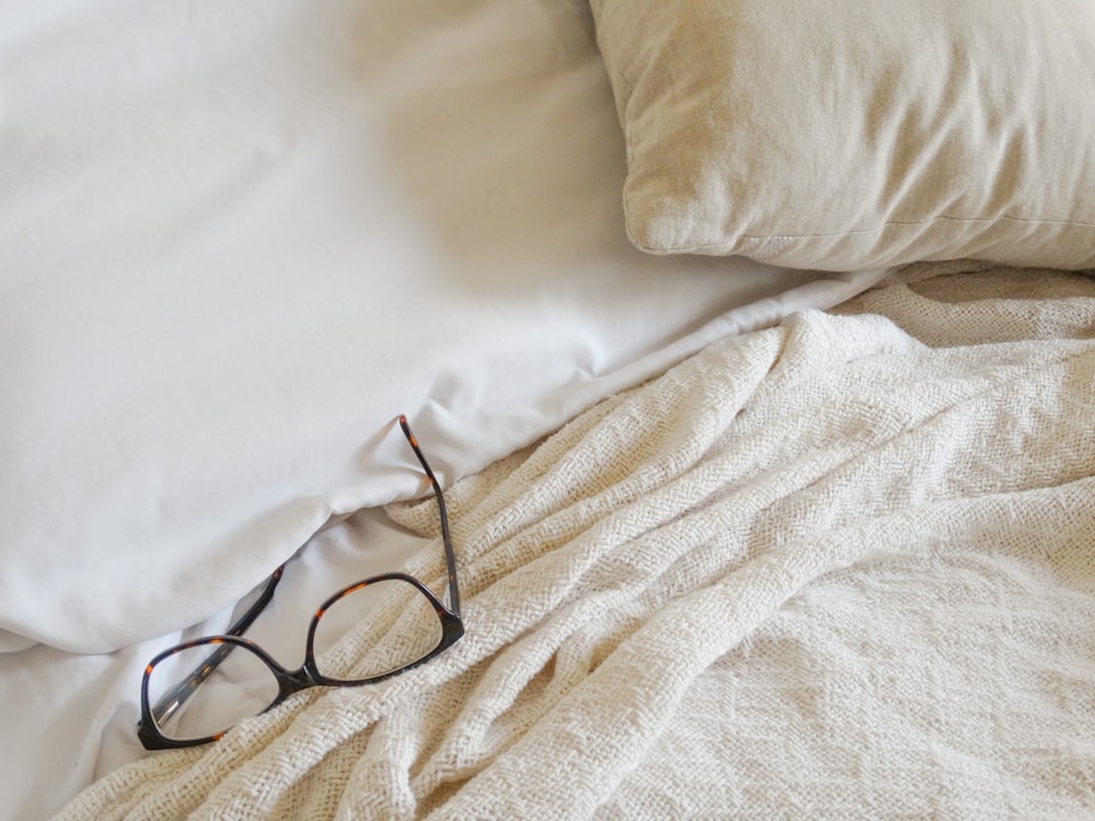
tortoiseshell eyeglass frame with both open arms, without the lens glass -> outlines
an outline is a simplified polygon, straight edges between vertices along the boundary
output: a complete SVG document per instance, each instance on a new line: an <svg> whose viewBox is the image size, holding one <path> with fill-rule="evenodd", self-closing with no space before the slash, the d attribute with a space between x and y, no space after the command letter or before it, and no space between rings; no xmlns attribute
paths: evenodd
<svg viewBox="0 0 1095 821"><path fill-rule="evenodd" d="M370 576L367 579L355 581L353 585L344 587L334 595L330 597L319 606L315 614L312 616L311 624L308 627L308 643L304 648L304 663L297 670L287 670L275 661L274 658L262 647L256 645L251 639L243 637L246 629L252 625L252 623L254 623L255 618L258 617L258 614L263 612L266 605L269 604L270 600L274 598L274 591L277 588L278 582L281 580L281 575L285 573L285 565L283 564L274 570L270 577L266 580L266 586L258 597L258 600L235 622L235 624L229 627L223 635L195 638L193 640L175 645L174 647L158 654L145 667L145 675L141 680L140 689L140 720L137 722L137 737L140 739L140 742L143 744L146 750L170 750L175 748L208 744L223 736L228 729L231 729L227 728L221 732L204 738L174 739L164 736L160 731L158 721L165 720L172 713L178 709L178 707L182 706L182 704L191 695L193 695L193 693L235 647L246 647L269 668L274 678L277 680L278 694L274 701L272 701L262 710L265 713L284 702L293 693L298 693L310 687L359 686L361 684L374 684L394 675L399 675L400 673L404 673L407 670L418 667L419 664L423 664L440 655L464 635L464 623L460 616L460 589L457 586L457 563L456 556L452 552L452 539L449 534L449 517L445 508L445 496L441 495L441 488L437 478L434 476L434 471L430 470L429 463L426 461L426 456L423 455L422 449L418 447L418 440L415 439L414 433L411 432L411 426L407 424L406 417L400 415L399 424L403 430L403 435L406 437L407 442L411 444L411 449L414 451L415 456L417 456L418 463L422 465L422 470L426 474L426 478L429 481L429 485L434 490L434 497L437 499L437 507L440 512L441 520L441 543L445 547L445 562L448 570L449 606L445 606L445 604L441 603L441 601L428 587L407 574L389 573L380 576ZM323 614L344 595L348 595L364 587L367 587L368 585L374 585L379 581L388 581L392 579L405 581L414 586L418 592L425 595L434 606L434 611L437 613L437 617L441 625L441 639L437 647L417 661L413 661L404 667L381 673L380 675L372 675L365 679L332 679L321 673L315 667L315 652L312 643L315 637L315 628ZM203 646L211 648L209 656L205 659L205 661L187 674L166 694L160 697L155 704L149 704L149 677L155 666L175 654Z"/></svg>

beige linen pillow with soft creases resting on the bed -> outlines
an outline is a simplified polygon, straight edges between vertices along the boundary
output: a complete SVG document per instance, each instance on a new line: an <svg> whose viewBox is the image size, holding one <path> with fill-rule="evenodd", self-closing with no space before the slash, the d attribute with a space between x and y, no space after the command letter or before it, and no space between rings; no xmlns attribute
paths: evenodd
<svg viewBox="0 0 1095 821"><path fill-rule="evenodd" d="M592 0L658 254L1095 267L1093 0Z"/></svg>

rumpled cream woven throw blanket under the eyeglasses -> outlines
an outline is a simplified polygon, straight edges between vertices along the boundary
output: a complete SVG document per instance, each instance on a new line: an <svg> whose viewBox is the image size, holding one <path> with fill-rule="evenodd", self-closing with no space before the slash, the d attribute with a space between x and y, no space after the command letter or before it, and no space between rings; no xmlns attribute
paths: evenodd
<svg viewBox="0 0 1095 821"><path fill-rule="evenodd" d="M713 345L449 493L452 650L64 817L1093 817L1093 337L934 266Z"/></svg>

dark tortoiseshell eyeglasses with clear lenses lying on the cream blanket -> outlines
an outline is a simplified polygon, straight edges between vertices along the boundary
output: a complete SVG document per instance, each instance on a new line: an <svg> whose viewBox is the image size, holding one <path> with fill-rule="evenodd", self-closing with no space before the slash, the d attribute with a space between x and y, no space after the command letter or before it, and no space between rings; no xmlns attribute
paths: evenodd
<svg viewBox="0 0 1095 821"><path fill-rule="evenodd" d="M224 635L184 641L149 661L141 681L137 724L137 737L146 750L216 741L244 718L265 713L309 687L353 687L390 679L429 661L464 634L445 497L406 417L400 416L399 423L437 499L448 567L449 606L407 574L389 573L361 579L319 606L308 627L304 663L298 670L287 670L262 647L243 637L274 598L285 573L283 564L267 579L257 601ZM378 601L395 608L395 615L391 628L377 637L355 668L355 678L344 678L324 667L331 663L324 661L325 651L347 633L357 632L365 614Z"/></svg>

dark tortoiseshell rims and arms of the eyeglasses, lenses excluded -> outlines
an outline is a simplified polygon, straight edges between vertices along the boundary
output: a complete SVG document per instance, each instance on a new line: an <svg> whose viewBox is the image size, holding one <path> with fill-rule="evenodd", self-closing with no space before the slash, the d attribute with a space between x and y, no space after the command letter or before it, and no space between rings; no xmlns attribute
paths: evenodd
<svg viewBox="0 0 1095 821"><path fill-rule="evenodd" d="M280 664L273 656L270 656L265 649L260 645L252 641L250 638L245 638L242 634L251 626L251 624L257 618L260 613L266 608L266 605L274 598L274 591L281 580L281 576L285 573L285 567L288 563L283 563L279 565L274 573L269 576L266 582L266 587L260 594L258 600L249 608L247 612L240 617L226 633L220 635L201 636L199 638L189 639L187 641L182 641L177 645L169 647L165 650L157 654L146 666L145 672L141 678L141 715L140 720L137 722L137 737L146 750L166 750L166 749L177 749L186 747L198 747L200 744L211 743L220 739L224 732L227 732L231 727L226 728L219 733L212 736L207 736L204 738L196 739L174 739L170 736L164 736L160 730L159 725L152 717L152 709L149 705L148 696L148 683L152 671L155 666L159 664L164 659L183 652L184 650L193 649L194 647L200 647L203 645L214 645L214 644L230 644L244 648L255 656L257 656L275 674L278 681L278 695L270 702L262 713L274 708L290 695L301 690L306 690L312 686L360 686L362 684L373 684L384 681L385 679L391 679L401 673L405 673L419 664L423 664L430 659L437 657L453 644L457 643L464 635L464 624L463 618L460 615L460 589L457 582L457 567L456 567L456 555L452 550L452 539L449 530L449 519L448 511L445 505L445 496L441 494L440 484L437 477L434 475L434 471L430 469L429 463L426 461L426 456L423 454L422 449L418 444L418 440L411 430L411 426L407 423L407 418L404 414L400 414L397 417L403 435L406 437L411 449L414 451L415 456L418 459L418 463L422 465L423 472L429 482L430 487L434 490L434 496L437 500L438 510L440 514L441 524L441 544L445 552L446 560L446 571L448 577L448 593L449 593L449 606L446 606L430 590L426 585L416 579L414 576L408 574L393 571L388 574L380 574L377 576L370 576L365 579L351 582L347 585L342 590L330 595L324 602L316 609L309 623L308 638L306 644L306 658L304 663L299 670L290 671ZM379 675L369 677L365 679L345 680L345 679L331 679L324 677L315 669L314 650L312 646L312 640L315 633L315 627L323 613L338 601L344 595L349 592L356 591L361 587L369 583L376 583L378 581L385 581L391 579L399 579L403 581L411 582L419 592L425 594L430 601L438 615L441 623L441 640L438 643L437 647L430 650L428 654L423 656L420 659L413 661L404 667L396 670L391 670ZM233 725L234 726L234 725Z"/></svg>

